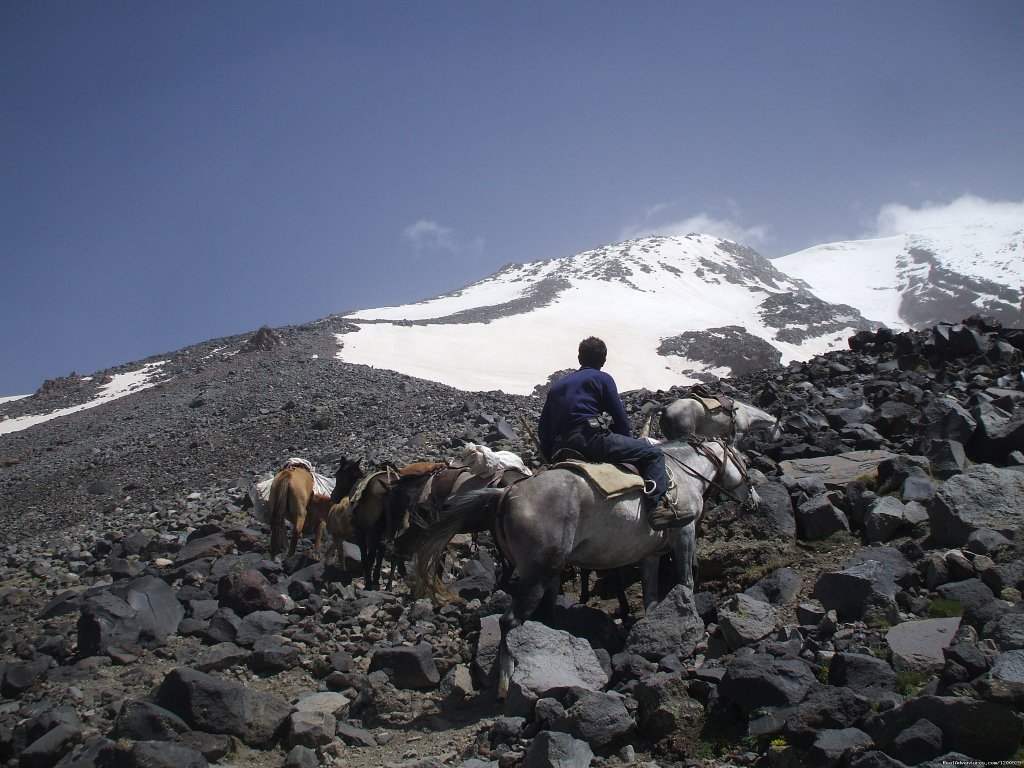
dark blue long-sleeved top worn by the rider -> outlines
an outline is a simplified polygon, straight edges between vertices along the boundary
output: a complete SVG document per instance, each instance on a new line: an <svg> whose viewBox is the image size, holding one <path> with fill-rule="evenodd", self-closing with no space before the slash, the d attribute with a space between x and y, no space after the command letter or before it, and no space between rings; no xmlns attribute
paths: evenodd
<svg viewBox="0 0 1024 768"><path fill-rule="evenodd" d="M556 438L567 435L587 419L601 413L611 416L612 432L632 436L615 381L608 374L596 368L581 368L556 381L548 391L538 426L544 455L552 456Z"/></svg>

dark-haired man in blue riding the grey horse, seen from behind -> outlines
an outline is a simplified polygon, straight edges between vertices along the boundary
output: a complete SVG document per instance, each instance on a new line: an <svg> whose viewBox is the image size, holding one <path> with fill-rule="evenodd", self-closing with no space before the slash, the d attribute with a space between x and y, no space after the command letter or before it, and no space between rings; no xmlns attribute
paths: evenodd
<svg viewBox="0 0 1024 768"><path fill-rule="evenodd" d="M633 464L645 480L644 495L654 530L685 523L664 497L669 489L665 454L631 434L615 382L601 371L608 348L591 336L580 342L580 370L556 381L544 402L538 428L541 451L553 460L568 451L587 461Z"/></svg>

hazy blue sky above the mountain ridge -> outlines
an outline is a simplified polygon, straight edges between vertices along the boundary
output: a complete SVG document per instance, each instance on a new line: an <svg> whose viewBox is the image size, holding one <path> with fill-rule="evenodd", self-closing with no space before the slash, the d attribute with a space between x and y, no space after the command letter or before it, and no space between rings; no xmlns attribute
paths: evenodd
<svg viewBox="0 0 1024 768"><path fill-rule="evenodd" d="M0 395L630 237L1022 203L1022 39L1018 0L2 0Z"/></svg>

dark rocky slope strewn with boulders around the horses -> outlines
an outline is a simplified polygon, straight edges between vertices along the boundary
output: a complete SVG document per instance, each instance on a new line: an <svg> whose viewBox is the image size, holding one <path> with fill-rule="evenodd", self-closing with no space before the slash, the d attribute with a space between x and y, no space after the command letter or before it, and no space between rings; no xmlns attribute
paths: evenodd
<svg viewBox="0 0 1024 768"><path fill-rule="evenodd" d="M863 767L1017 754L1020 333L981 318L864 332L848 351L721 382L786 427L744 445L758 512L709 510L695 596L667 579L637 621L626 573L627 621L600 580L587 605L562 603L561 631L517 631L521 671L563 660L540 662L554 682L520 675L500 706L507 596L485 541L457 541L462 599L434 605L400 582L364 590L309 542L272 562L241 501L289 456L328 474L341 456L404 464L465 440L528 459L520 419L534 423L541 399L341 365L322 330L181 350L162 386L0 440L10 765ZM60 396L50 389L40 397ZM625 399L639 426L683 393Z"/></svg>

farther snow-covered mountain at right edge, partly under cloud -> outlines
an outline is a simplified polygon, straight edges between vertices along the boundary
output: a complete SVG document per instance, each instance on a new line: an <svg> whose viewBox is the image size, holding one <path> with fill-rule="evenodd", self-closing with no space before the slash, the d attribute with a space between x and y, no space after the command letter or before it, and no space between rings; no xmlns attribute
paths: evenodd
<svg viewBox="0 0 1024 768"><path fill-rule="evenodd" d="M1022 321L1024 221L1013 213L815 246L772 263L824 301L852 304L893 329L923 329L979 312L1008 326Z"/></svg>

